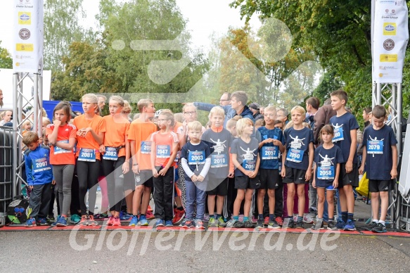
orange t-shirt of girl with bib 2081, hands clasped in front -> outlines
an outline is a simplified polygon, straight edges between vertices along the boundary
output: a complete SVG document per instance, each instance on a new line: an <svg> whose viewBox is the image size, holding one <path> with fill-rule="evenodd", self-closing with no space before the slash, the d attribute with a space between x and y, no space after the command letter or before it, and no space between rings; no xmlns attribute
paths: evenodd
<svg viewBox="0 0 410 273"><path fill-rule="evenodd" d="M91 120L86 120L85 115L79 115L78 117L75 117L74 122L72 122L75 127L77 127L77 130L91 127L96 134L103 133L105 132L105 120L101 118L99 115L94 115L94 118ZM94 149L96 153L96 160L100 160L100 153L98 152L98 148L100 146L98 145L97 141L94 139L93 135L89 132L86 134L85 137L82 136L77 136L77 152L75 153L75 156L78 158L79 155L79 150L81 148L91 148Z"/></svg>

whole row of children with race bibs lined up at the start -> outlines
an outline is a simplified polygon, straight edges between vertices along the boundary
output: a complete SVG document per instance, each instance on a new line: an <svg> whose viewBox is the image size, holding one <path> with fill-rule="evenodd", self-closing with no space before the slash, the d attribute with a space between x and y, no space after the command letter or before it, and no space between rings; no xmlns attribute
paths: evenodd
<svg viewBox="0 0 410 273"><path fill-rule="evenodd" d="M51 225L97 225L94 206L100 182L106 184L101 188L108 196L109 213L98 217L108 217L104 223L113 226L120 226L121 220L129 220L129 226L148 225L153 218L148 216L152 195L156 227L302 229L304 222L313 223L305 219L307 191L316 189L317 218L312 229L352 231L353 189L359 173L366 170L373 212L369 230L386 231L388 191L397 177L397 141L385 125L383 106L372 110L358 160L359 125L346 110L343 90L331 94L335 115L319 128L320 142L310 128L315 126L313 118L305 122L301 106L290 110L287 122L286 109L267 106L259 111L252 103L257 115L263 116L262 124L255 126L245 106L245 92L229 96L224 101L231 104L222 106L187 103L181 122L170 110L155 112L150 99L138 102L140 115L135 120L129 120L129 104L120 96L110 97L110 114L105 117L94 94L82 97L84 113L73 120L70 103L58 103L43 141L25 127L25 168L32 190L26 227L53 218L54 185L58 217ZM198 105L210 111L206 128L196 120ZM337 221L335 191L340 203ZM126 211L122 211L123 199ZM73 217L77 214L81 218Z"/></svg>

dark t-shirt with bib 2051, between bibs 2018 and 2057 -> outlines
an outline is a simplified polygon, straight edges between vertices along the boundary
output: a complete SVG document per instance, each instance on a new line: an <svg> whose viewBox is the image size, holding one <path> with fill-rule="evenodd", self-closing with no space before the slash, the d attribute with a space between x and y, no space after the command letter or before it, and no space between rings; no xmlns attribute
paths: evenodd
<svg viewBox="0 0 410 273"><path fill-rule="evenodd" d="M243 141L240 137L233 139L231 153L235 153L236 160L245 170L255 171L257 153L259 153L259 142L254 137L250 138L249 143ZM257 171L257 170L256 170ZM239 169L235 169L236 177L243 177L245 174Z"/></svg>

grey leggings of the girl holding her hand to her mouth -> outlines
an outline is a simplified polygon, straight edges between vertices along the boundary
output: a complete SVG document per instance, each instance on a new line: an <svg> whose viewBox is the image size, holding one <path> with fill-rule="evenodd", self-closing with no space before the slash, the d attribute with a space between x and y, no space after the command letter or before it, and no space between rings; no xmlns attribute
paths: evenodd
<svg viewBox="0 0 410 273"><path fill-rule="evenodd" d="M61 215L68 215L71 204L71 183L74 165L53 165L53 175L58 189L58 204Z"/></svg>

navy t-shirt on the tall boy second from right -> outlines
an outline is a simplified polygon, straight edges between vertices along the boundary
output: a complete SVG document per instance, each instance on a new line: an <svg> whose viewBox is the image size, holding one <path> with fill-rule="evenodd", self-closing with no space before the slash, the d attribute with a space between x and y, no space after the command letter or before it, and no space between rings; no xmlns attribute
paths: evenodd
<svg viewBox="0 0 410 273"><path fill-rule="evenodd" d="M335 136L333 136L333 143L342 150L343 163L346 163L350 155L350 144L352 144L352 138L350 137L350 131L359 129L356 118L354 115L347 112L340 117L333 116L330 120L330 124L335 129ZM357 163L357 151L354 149L353 163Z"/></svg>

